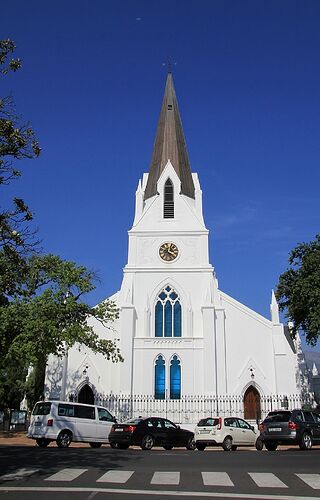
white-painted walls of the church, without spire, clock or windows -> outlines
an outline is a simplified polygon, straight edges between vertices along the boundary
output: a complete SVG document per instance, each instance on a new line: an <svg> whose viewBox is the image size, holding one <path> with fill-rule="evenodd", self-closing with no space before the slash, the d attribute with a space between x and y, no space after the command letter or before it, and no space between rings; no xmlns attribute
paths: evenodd
<svg viewBox="0 0 320 500"><path fill-rule="evenodd" d="M124 362L112 364L86 348L72 348L65 363L65 396L76 396L85 384L99 395L154 396L159 356L165 363L166 398L170 398L174 356L180 362L181 397L245 397L250 390L258 397L297 394L297 356L279 322L274 294L269 320L218 288L209 261L209 232L197 174L192 174L194 198L181 194L177 168L167 158L157 179L157 193L145 199L149 175L138 183L128 263L120 291L111 297L120 308L120 318L113 330L95 324L102 337L119 339ZM173 185L174 217L165 218L168 179ZM172 261L163 260L159 253L168 242L178 249ZM156 304L166 287L180 301L181 336L174 336L174 328L171 336L156 336ZM61 397L62 365L63 361L54 359L48 365L46 393L51 397Z"/></svg>

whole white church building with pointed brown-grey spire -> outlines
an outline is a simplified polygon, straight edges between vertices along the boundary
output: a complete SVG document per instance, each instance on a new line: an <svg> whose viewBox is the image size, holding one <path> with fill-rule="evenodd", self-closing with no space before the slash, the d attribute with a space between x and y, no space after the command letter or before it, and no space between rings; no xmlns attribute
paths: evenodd
<svg viewBox="0 0 320 500"><path fill-rule="evenodd" d="M126 401L127 415L166 412L180 422L220 410L257 419L272 404L301 404L296 346L273 292L270 318L222 292L208 238L169 73L123 281L110 297L119 319L112 329L95 324L102 338L119 339L124 362L75 346L49 360L46 397L116 402L118 413Z"/></svg>

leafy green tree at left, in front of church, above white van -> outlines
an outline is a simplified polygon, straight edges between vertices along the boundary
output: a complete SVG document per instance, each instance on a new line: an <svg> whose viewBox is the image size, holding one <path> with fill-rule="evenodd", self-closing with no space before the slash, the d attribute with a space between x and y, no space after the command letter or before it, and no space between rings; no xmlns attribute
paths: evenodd
<svg viewBox="0 0 320 500"><path fill-rule="evenodd" d="M0 397L8 380L12 380L14 366L21 367L19 373L24 377L27 367L33 366L38 373L34 384L43 387L49 354L62 356L76 343L113 362L122 361L116 340L100 338L88 323L95 318L110 328L118 317L112 301L106 300L96 307L83 301L83 296L95 288L94 280L94 274L85 267L55 255L25 259L24 273L17 274L12 283L14 295L5 296L6 301L0 307ZM21 379L17 385L19 390L16 388L14 396L17 392L21 394Z"/></svg>

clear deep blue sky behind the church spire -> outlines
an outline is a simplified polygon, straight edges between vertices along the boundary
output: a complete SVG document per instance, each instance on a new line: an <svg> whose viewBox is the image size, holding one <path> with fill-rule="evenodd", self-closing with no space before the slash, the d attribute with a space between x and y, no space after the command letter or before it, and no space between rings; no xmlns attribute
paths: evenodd
<svg viewBox="0 0 320 500"><path fill-rule="evenodd" d="M2 3L23 69L1 95L43 148L5 197L44 251L98 271L92 304L121 284L170 55L219 286L269 317L289 251L319 232L319 26L318 0Z"/></svg>

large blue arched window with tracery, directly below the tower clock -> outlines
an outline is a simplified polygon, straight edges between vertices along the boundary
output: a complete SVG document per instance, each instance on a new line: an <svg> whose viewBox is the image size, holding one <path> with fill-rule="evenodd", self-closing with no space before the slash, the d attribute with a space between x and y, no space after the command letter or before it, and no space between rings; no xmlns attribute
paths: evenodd
<svg viewBox="0 0 320 500"><path fill-rule="evenodd" d="M155 336L181 337L180 298L171 286L158 295L155 307Z"/></svg>

